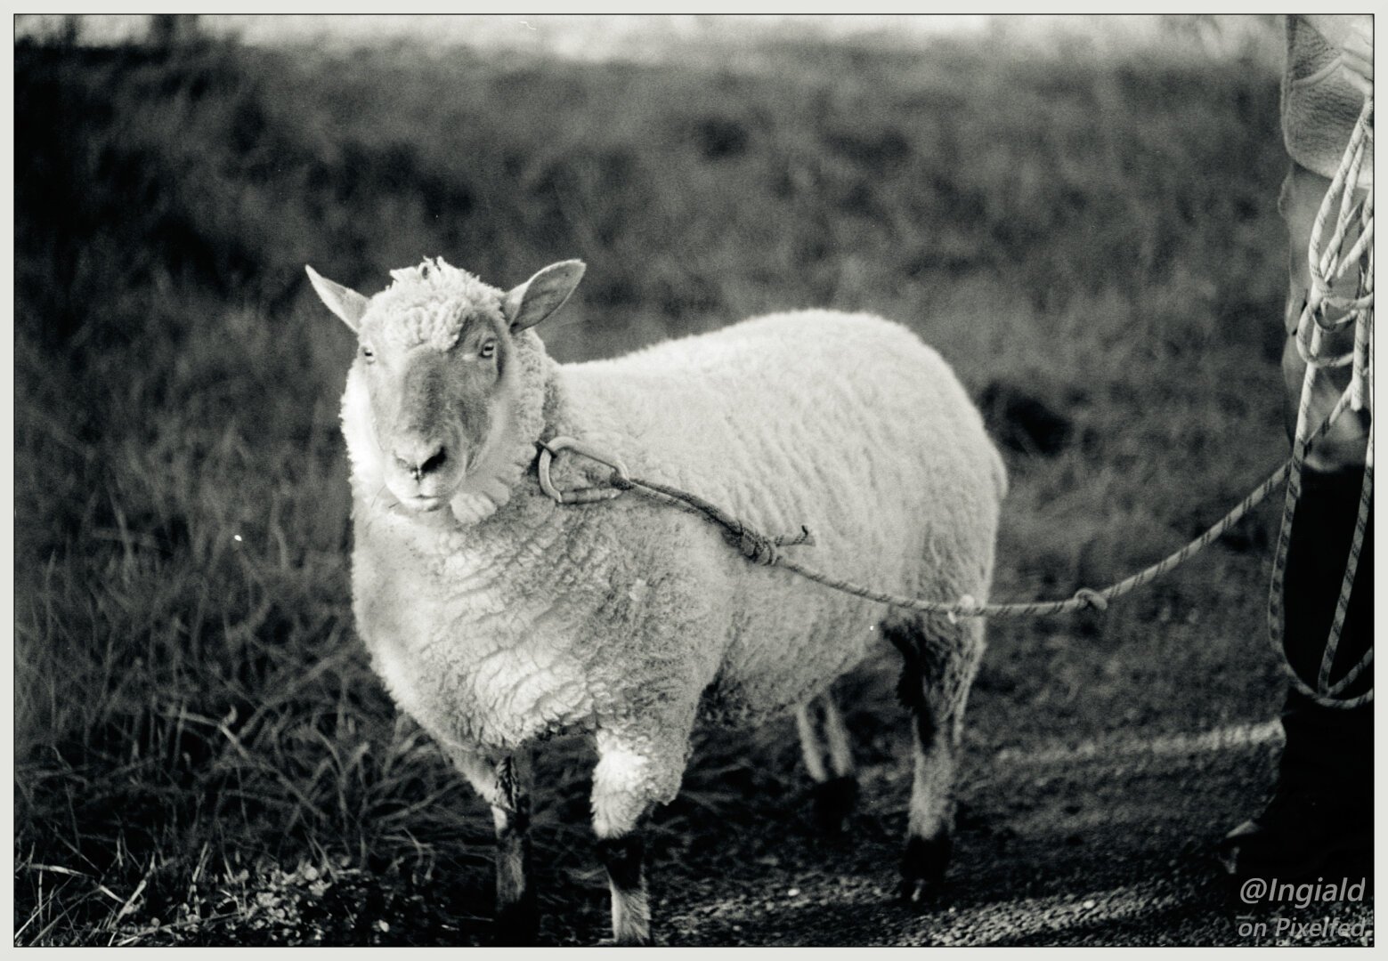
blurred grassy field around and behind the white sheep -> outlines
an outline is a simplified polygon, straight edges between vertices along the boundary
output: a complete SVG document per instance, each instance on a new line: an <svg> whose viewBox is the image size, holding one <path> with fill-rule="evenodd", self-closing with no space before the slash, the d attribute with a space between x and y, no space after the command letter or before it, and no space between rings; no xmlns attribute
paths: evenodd
<svg viewBox="0 0 1388 961"><path fill-rule="evenodd" d="M498 286L580 257L543 331L561 361L779 308L899 319L1005 447L997 599L1108 584L1284 456L1271 18L536 24L471 46L17 42L15 943L491 937L490 818L353 634L354 345L304 263L369 294L423 255ZM1016 759L1273 717L1274 524L1105 616L991 627L958 906L1212 871L1266 739L1208 777ZM806 824L793 724L701 738L654 831L661 937L869 937L833 892L891 883L892 682L886 652L840 684L865 767L849 840ZM550 943L604 933L587 759L561 742L540 765ZM795 883L833 926L770 908ZM892 910L872 937L927 936Z"/></svg>

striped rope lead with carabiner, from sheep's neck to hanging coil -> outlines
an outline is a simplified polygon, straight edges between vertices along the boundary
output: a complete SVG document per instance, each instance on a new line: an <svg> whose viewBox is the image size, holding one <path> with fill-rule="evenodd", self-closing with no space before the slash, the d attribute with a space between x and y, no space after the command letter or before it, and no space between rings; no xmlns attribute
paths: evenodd
<svg viewBox="0 0 1388 961"><path fill-rule="evenodd" d="M1224 517L1216 521L1198 538L1187 544L1180 551L1176 551L1155 564L1145 567L1137 574L1126 577L1110 587L1102 589L1080 588L1070 598L1063 600L1034 600L1019 603L981 603L967 595L959 598L958 600L930 600L926 598L911 598L898 594L888 594L886 591L877 591L840 577L831 577L816 567L788 557L781 548L797 545L812 546L815 544L813 534L811 534L808 528L801 527L798 534L783 537L763 534L731 516L718 505L711 503L695 494L682 491L680 488L670 487L668 484L632 477L620 460L607 456L572 437L557 437L536 445L540 451L537 465L540 487L547 495L559 503L593 503L595 501L611 499L623 491L638 491L651 499L701 514L709 523L722 527L733 546L741 551L741 553L755 564L781 567L811 581L823 584L827 588L833 588L834 591L841 591L866 600L876 600L906 610L916 610L927 614L942 614L952 621L959 617L1047 617L1084 609L1101 612L1106 610L1110 600L1116 600L1126 594L1131 594L1144 584L1155 581L1208 548L1212 542L1228 531L1228 528L1246 516L1248 512L1262 503L1278 484L1287 480L1287 499L1284 503L1283 526L1278 533L1277 552L1273 563L1273 584L1269 602L1270 638L1278 653L1278 659L1283 663L1283 668L1291 678L1292 684L1296 685L1302 693L1331 707L1356 707L1373 699L1373 689L1348 699L1342 698L1342 695L1349 685L1352 685L1360 674L1367 670L1369 664L1373 663L1373 649L1370 648L1369 653L1339 681L1332 682L1330 671L1335 659L1335 649L1344 625L1349 594L1353 588L1355 570L1357 569L1359 552L1367 524L1369 505L1371 503L1371 430L1364 465L1364 481L1360 492L1359 517L1355 524L1349 563L1341 584L1339 600L1335 607L1335 616L1331 625L1331 635L1326 645L1326 653L1321 659L1320 675L1317 677L1316 688L1310 688L1305 681L1302 681L1292 670L1291 664L1287 663L1287 655L1283 648L1283 582L1287 567L1287 542L1296 501L1301 496L1301 471L1306 459L1306 451L1312 444L1324 437L1331 424L1341 413L1344 413L1345 409L1352 408L1359 410L1363 408L1366 383L1371 377L1373 187L1369 187L1364 198L1356 200L1353 197L1357 187L1359 171L1364 159L1366 133L1371 128L1371 123L1373 100L1370 98L1364 104L1364 110L1360 114L1353 137L1345 151L1345 158L1341 162L1341 169L1337 172L1330 190L1326 193L1326 198L1321 202L1321 208L1316 216L1316 223L1312 230L1309 251L1312 263L1312 290L1307 295L1307 305L1302 311L1296 334L1298 349L1301 349L1302 356L1306 358L1306 379L1302 384L1301 402L1298 405L1292 456L1288 458L1281 467L1273 471L1267 480L1259 484L1248 496L1239 501L1233 510L1224 514ZM1328 243L1323 244L1321 237L1324 234L1326 223L1330 219L1330 212L1337 207L1338 215L1335 219L1335 229L1331 233ZM1357 226L1359 237L1352 244L1349 252L1341 255L1339 251L1349 236L1351 227L1353 226ZM1342 279L1349 270L1357 269L1362 258L1366 258L1367 266L1359 270L1356 294L1353 297L1341 297L1334 294L1331 291L1332 283ZM1327 313L1331 311L1344 312L1344 315L1331 320L1327 318ZM1323 358L1323 331L1328 333L1342 330L1351 323L1356 324L1353 349L1345 356ZM1346 363L1353 365L1349 388L1344 391L1339 401L1321 424L1312 430L1309 427L1310 388L1316 370L1321 367L1344 366ZM608 478L607 487L589 487L576 491L557 490L550 478L550 463L557 453L565 449L582 453L583 456L611 467L612 476Z"/></svg>

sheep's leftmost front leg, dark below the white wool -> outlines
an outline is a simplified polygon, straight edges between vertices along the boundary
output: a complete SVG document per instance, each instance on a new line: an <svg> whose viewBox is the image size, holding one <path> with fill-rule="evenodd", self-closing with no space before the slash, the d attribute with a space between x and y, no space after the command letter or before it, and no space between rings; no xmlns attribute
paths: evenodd
<svg viewBox="0 0 1388 961"><path fill-rule="evenodd" d="M491 806L497 831L497 940L530 944L537 919L530 885L530 756L518 753L493 763L455 753L452 760Z"/></svg>

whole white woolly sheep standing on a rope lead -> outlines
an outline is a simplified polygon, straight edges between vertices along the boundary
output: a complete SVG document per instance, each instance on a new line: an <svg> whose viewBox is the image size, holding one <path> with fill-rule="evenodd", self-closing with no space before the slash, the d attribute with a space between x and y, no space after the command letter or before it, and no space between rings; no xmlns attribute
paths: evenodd
<svg viewBox="0 0 1388 961"><path fill-rule="evenodd" d="M559 435L763 531L808 526L820 566L916 595L987 596L1006 491L983 420L940 355L881 318L776 313L618 359L561 365L533 327L579 261L508 291L441 258L366 298L308 268L357 334L341 427L351 463L353 610L401 710L490 804L497 925L536 924L529 757L586 732L593 829L618 943L650 943L641 824L670 802L695 718L795 711L827 822L856 793L830 682L880 638L913 716L901 892L951 853L955 756L984 649L976 618L833 592L730 549L693 512L638 494L559 505L537 442ZM609 469L561 453L562 490Z"/></svg>

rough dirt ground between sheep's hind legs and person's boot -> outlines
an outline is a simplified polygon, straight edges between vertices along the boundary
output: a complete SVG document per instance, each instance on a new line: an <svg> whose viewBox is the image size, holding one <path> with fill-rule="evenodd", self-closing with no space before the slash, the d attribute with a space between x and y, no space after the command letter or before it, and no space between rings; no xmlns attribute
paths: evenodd
<svg viewBox="0 0 1388 961"><path fill-rule="evenodd" d="M891 903L904 815L883 803L908 774L869 770L845 836L823 839L798 818L701 839L705 851L738 850L695 856L704 885L659 899L657 917L669 944L1370 944L1371 896L1242 904L1212 857L1256 810L1278 735L1269 724L974 750L948 890L919 914ZM1357 926L1289 926L1324 918Z"/></svg>

